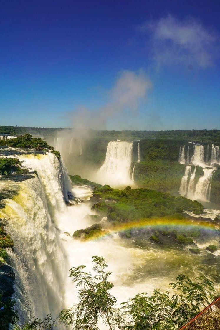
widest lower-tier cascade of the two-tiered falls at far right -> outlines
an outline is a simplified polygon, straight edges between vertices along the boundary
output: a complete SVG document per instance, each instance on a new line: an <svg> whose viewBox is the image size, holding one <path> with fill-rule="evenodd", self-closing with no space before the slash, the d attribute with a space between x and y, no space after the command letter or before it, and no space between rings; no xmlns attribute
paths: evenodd
<svg viewBox="0 0 220 330"><path fill-rule="evenodd" d="M204 173L203 176L199 179L199 181L196 185L194 198L203 200L203 201L209 201L213 169L204 168L203 173Z"/></svg>

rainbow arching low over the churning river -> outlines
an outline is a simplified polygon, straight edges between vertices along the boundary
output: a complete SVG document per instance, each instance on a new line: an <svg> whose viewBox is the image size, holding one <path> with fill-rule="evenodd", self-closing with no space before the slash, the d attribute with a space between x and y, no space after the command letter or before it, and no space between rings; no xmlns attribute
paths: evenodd
<svg viewBox="0 0 220 330"><path fill-rule="evenodd" d="M130 229L141 229L141 228L184 228L184 229L204 229L204 230L212 230L216 231L220 229L220 226L215 223L211 223L209 221L204 220L194 220L194 219L177 219L172 217L163 217L163 218L151 218L151 219L141 219L135 221L129 221L126 223L120 223L114 225L108 229L104 229L100 232L94 233L91 237L86 240L97 240L104 236L110 236L114 233L123 232Z"/></svg>

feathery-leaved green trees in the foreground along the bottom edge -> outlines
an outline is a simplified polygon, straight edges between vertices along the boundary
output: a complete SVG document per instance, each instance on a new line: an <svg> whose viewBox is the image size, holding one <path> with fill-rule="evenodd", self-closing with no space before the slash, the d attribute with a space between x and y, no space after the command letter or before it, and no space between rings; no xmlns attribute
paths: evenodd
<svg viewBox="0 0 220 330"><path fill-rule="evenodd" d="M106 259L93 257L96 276L85 271L85 266L73 267L70 277L79 286L78 303L61 311L60 322L74 330L99 330L99 322L110 330L175 330L200 312L209 300L214 299L213 283L204 276L193 282L179 275L170 283L176 294L154 289L152 296L146 292L116 308L116 299L110 294L113 284L109 281ZM205 327L209 330L209 327ZM210 328L211 330L212 328Z"/></svg>

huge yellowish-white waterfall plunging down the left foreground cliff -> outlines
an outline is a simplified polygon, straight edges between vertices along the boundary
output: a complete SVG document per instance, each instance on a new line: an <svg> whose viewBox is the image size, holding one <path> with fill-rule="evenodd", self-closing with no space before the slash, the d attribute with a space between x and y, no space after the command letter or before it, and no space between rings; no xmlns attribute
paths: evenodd
<svg viewBox="0 0 220 330"><path fill-rule="evenodd" d="M16 182L17 195L0 209L14 241L10 262L15 269L14 297L22 322L35 316L44 318L52 311L57 316L65 306L69 263L56 227L67 210L68 193L63 193L70 189L70 182L65 167L52 153L16 157L23 166L37 171L37 176Z"/></svg>

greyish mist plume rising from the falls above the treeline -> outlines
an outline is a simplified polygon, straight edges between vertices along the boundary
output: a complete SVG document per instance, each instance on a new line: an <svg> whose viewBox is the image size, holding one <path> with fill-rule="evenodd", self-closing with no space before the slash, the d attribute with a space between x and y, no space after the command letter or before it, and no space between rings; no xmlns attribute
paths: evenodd
<svg viewBox="0 0 220 330"><path fill-rule="evenodd" d="M106 129L109 128L108 124L113 123L114 129L120 129L122 116L126 114L132 121L151 86L143 72L122 71L108 91L107 101L102 107L88 109L80 106L71 112L73 127L80 131L88 128Z"/></svg>

